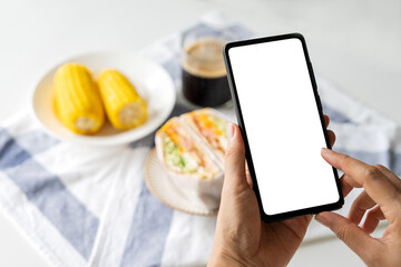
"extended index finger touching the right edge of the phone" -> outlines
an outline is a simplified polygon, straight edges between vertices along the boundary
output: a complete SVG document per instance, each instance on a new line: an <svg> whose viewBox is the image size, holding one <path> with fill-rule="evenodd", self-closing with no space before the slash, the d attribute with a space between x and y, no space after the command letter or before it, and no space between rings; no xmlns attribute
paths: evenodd
<svg viewBox="0 0 401 267"><path fill-rule="evenodd" d="M326 148L322 149L322 157L334 168L346 174L344 178L350 186L363 187L368 195L382 207L390 222L401 219L401 212L398 211L401 208L400 190L380 169Z"/></svg>

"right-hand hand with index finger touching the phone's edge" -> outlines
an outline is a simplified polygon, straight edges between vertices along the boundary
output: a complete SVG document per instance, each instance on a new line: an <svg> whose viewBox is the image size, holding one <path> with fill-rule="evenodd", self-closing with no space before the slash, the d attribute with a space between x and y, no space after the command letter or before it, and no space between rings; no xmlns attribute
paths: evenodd
<svg viewBox="0 0 401 267"><path fill-rule="evenodd" d="M344 172L341 178L344 196L354 187L363 187L364 191L353 202L348 218L322 212L315 219L332 229L368 266L401 266L401 180L380 165L366 165L329 149L322 149L322 156ZM364 214L366 218L359 227ZM371 237L384 219L390 225L383 237Z"/></svg>

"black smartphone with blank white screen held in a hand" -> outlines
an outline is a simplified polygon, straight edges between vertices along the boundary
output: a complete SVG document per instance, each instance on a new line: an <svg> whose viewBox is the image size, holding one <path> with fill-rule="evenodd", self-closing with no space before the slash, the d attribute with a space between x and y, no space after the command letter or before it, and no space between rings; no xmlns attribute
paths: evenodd
<svg viewBox="0 0 401 267"><path fill-rule="evenodd" d="M336 169L302 34L227 43L227 78L262 219L275 221L339 209Z"/></svg>

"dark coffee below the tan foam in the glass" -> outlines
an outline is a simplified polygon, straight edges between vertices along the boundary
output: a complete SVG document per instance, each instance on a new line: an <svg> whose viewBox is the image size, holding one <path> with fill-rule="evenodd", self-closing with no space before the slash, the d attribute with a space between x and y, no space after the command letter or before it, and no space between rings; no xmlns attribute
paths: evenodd
<svg viewBox="0 0 401 267"><path fill-rule="evenodd" d="M231 99L227 76L204 78L183 69L183 93L195 105L216 107Z"/></svg>

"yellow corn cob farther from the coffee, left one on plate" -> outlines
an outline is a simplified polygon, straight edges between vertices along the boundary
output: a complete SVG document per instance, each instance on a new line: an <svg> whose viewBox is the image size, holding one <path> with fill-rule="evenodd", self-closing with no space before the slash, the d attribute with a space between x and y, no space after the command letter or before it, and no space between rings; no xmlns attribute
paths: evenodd
<svg viewBox="0 0 401 267"><path fill-rule="evenodd" d="M94 134L105 121L101 98L90 71L77 63L61 66L55 76L55 111L76 134Z"/></svg>

